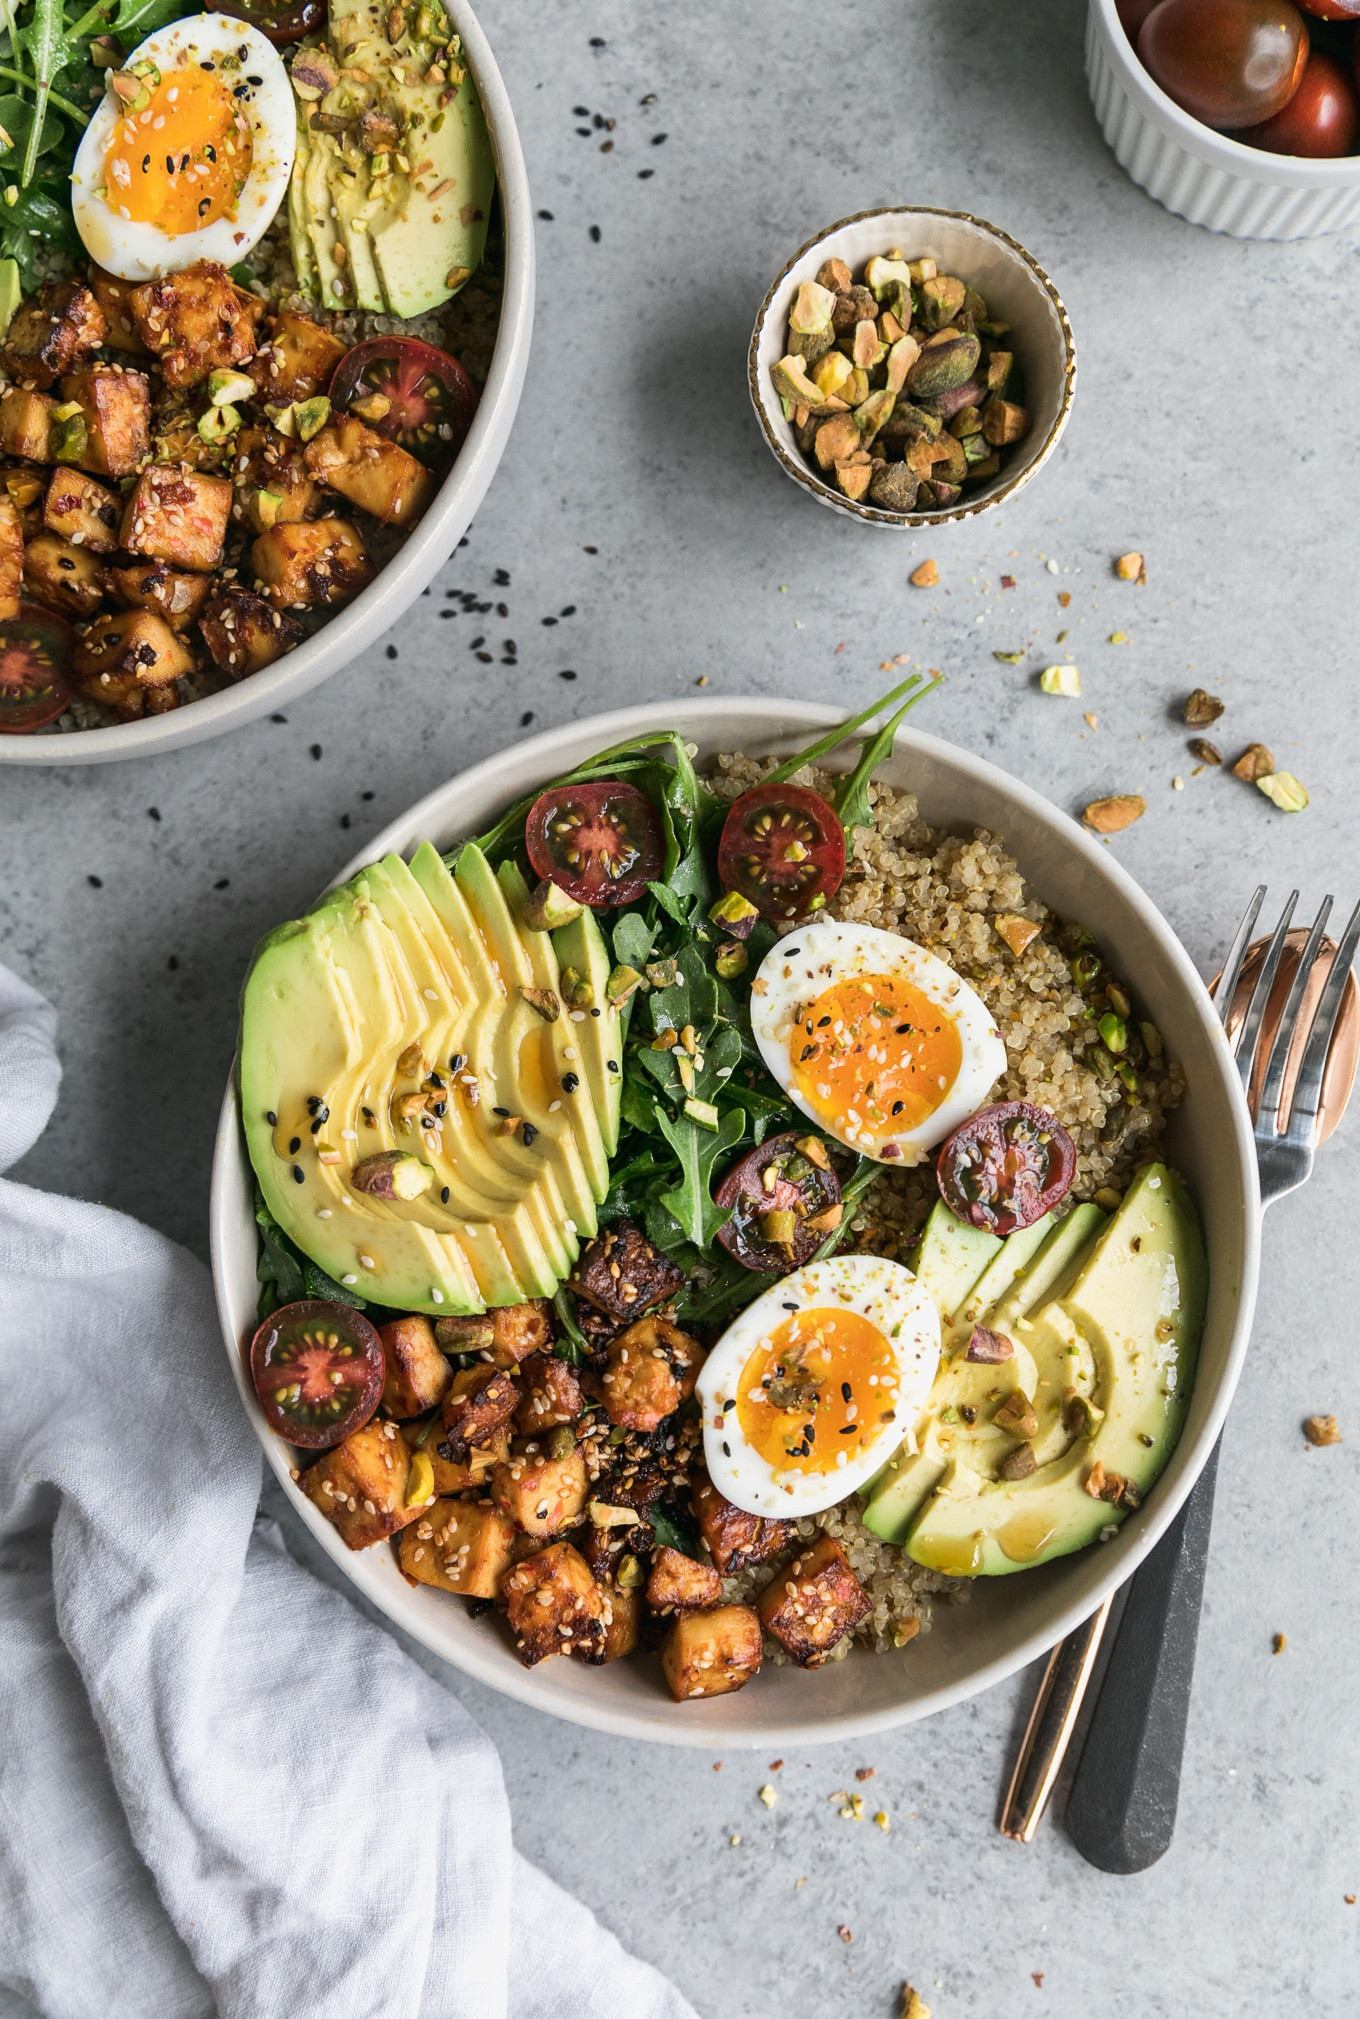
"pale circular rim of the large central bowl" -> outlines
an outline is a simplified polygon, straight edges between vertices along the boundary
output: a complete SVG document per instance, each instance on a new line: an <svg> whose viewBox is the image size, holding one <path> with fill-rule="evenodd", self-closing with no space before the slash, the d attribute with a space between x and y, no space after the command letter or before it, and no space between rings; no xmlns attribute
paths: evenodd
<svg viewBox="0 0 1360 2019"><path fill-rule="evenodd" d="M674 701L642 703L630 709L613 709L605 715L583 717L573 723L563 723L557 729L543 731L523 743L513 743L490 757L480 759L466 771L454 773L442 785L424 793L412 808L387 822L387 826L373 836L373 840L361 848L347 864L337 872L337 876L327 884L335 888L339 882L347 882L369 862L379 856L398 850L406 852L416 838L430 834L436 828L446 826L446 814L440 802L446 798L450 785L460 785L466 793L488 791L498 783L498 775L508 771L511 765L523 765L527 755L541 759L541 777L547 781L559 769L563 769L561 755L579 743L583 731L591 731L593 739L601 749L624 741L630 735L640 735L652 729L674 729L676 725L684 733L690 723L712 725L720 729L724 721L745 721L751 717L765 717L769 721L767 743L775 743L781 737L797 737L803 731L817 731L821 727L831 727L837 721L847 721L847 711L831 707L827 703L813 701L793 701L781 697L732 697L732 699L702 699L686 701L676 707ZM749 727L745 731L749 735ZM579 1698L569 1702L543 1700L537 1670L523 1670L515 1662L504 1660L502 1648L484 1645L480 1639L468 1639L450 1652L444 1635L428 1625L424 1619L398 1619L387 1603L389 1587L385 1587L367 1567L365 1553L355 1553L345 1549L339 1534L325 1520L325 1516L311 1504L311 1500L297 1488L291 1478L291 1446L276 1438L258 1407L254 1391L246 1379L246 1363L242 1355L242 1345L232 1329L232 1288L226 1280L224 1266L224 1228L228 1215L232 1213L232 1183L238 1173L248 1173L248 1157L244 1151L244 1139L238 1121L236 1106L236 1058L226 1080L226 1092L222 1098L222 1110L218 1119L218 1133L214 1143L214 1163L212 1163L212 1197L210 1197L210 1250L212 1250L212 1280L214 1296L218 1304L218 1320L222 1329L222 1345L232 1367L232 1377L236 1381L238 1393L242 1397L246 1415L264 1448L264 1458L268 1460L274 1476L278 1478L293 1510L311 1530L313 1538L325 1549L331 1561L343 1571L347 1581L351 1581L381 1613L391 1619L391 1623L410 1633L422 1645L430 1648L432 1654L448 1662L452 1668L470 1676L502 1696L511 1696L533 1710L545 1712L549 1716L563 1718L571 1724L581 1724L589 1730L609 1732L613 1736L646 1738L658 1744L676 1746L765 1746L765 1744L825 1744L841 1738L870 1736L882 1730L894 1730L900 1724L916 1722L916 1718L932 1716L936 1710L948 1710L954 1704L967 1702L971 1696L1005 1682L1017 1670L1025 1668L1029 1662L1039 1660L1049 1648L1053 1648L1063 1635L1071 1633L1084 1619L1088 1619L1106 1597L1110 1597L1122 1583L1126 1583L1144 1557L1156 1547L1166 1528L1172 1524L1180 1512L1184 1500L1188 1498L1209 1454L1219 1442L1223 1423L1227 1419L1233 1393L1241 1375L1243 1359L1247 1353L1251 1337L1251 1316L1255 1308L1257 1294L1257 1274L1259 1274L1259 1246L1261 1246L1261 1207L1259 1207L1259 1183L1257 1183L1257 1163L1255 1145L1251 1137L1251 1119L1247 1114L1245 1100L1241 1098L1241 1082L1237 1078L1237 1066L1223 1038L1223 1030L1213 1010L1213 1001L1205 989L1201 975L1191 963L1188 953L1172 933L1170 925L1162 919L1156 905L1148 898L1142 886L1130 876L1130 872L1112 856L1110 850L1098 846L1092 836L1088 836L1071 816L1063 814L1061 808L1045 800L1043 793L1025 785L1021 779L1003 771L999 765L989 763L985 757L977 757L973 751L960 749L954 743L946 743L940 737L928 737L910 727L898 729L894 737L894 755L902 749L918 751L922 757L936 763L954 767L967 779L973 779L991 789L1001 789L1007 793L1025 814L1037 818L1039 824L1047 824L1057 830L1057 836L1069 842L1100 876L1114 882L1116 890L1134 909L1144 931L1158 943L1158 951L1166 961L1168 971L1180 983L1186 1005L1193 1016L1201 1022L1203 1030L1211 1038L1209 1056L1217 1060L1223 1088L1229 1092L1229 1112L1233 1117L1231 1143L1223 1143L1219 1149L1221 1159L1231 1159L1237 1167L1239 1195L1243 1199L1243 1226L1241 1226L1241 1276L1235 1286L1235 1314L1229 1335L1229 1345L1225 1353L1223 1375L1219 1387L1209 1401L1205 1421L1201 1423L1199 1436L1191 1438L1188 1427L1182 1431L1180 1442L1172 1454L1166 1472L1160 1476L1160 1490L1142 1510L1140 1522L1130 1528L1124 1526L1120 1536L1108 1549L1108 1569L1086 1589L1084 1595L1069 1599L1067 1605L1043 1627L1035 1627L1021 1635L1005 1654L993 1656L981 1668L969 1672L954 1680L952 1684L942 1684L922 1698L910 1702L894 1704L884 1710L874 1712L837 1712L821 1716L815 1720L791 1720L779 1726L761 1726L751 1730L743 1722L724 1724L720 1718L712 1722L704 1718L702 1724L686 1726L674 1712L682 1706L670 1704L662 1698L660 1706L652 1712L640 1712L619 1706L609 1706L603 1698L591 1698L583 1692ZM561 755L559 755L561 753ZM535 763L535 769L539 765ZM868 1656L866 1656L868 1658ZM714 1698L714 1706L730 1702L728 1698ZM660 1722L660 1712L672 1714L672 1722Z"/></svg>

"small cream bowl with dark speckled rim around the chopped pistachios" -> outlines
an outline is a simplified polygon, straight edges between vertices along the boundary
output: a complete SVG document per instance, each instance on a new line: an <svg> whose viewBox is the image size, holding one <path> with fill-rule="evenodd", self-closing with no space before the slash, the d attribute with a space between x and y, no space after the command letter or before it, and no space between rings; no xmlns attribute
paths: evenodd
<svg viewBox="0 0 1360 2019"><path fill-rule="evenodd" d="M882 511L878 505L858 505L841 497L797 446L769 376L771 365L787 351L789 305L803 281L813 281L829 258L843 258L858 277L874 252L888 252L892 246L900 246L908 260L930 256L940 273L958 275L977 287L989 307L1011 323L1015 355L1025 374L1029 434L1007 452L1001 470L989 483L965 493L948 511ZM975 519L993 505L1005 505L1043 468L1067 426L1078 384L1078 353L1061 295L1033 254L995 224L971 218L962 210L862 210L799 246L771 285L755 319L747 378L751 404L779 468L819 505L864 525L952 525L956 519Z"/></svg>

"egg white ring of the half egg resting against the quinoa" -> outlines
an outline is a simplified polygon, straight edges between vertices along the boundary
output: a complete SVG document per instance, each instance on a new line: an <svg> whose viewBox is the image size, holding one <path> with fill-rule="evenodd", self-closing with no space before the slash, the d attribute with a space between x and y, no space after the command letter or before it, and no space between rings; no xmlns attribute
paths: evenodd
<svg viewBox="0 0 1360 2019"><path fill-rule="evenodd" d="M799 1007L854 975L896 975L936 1003L958 1032L962 1056L954 1084L914 1129L894 1135L866 1129L860 1137L854 1123L839 1125L819 1114L793 1084L791 1038ZM771 947L751 987L751 1030L787 1098L827 1135L878 1163L920 1163L928 1149L983 1106L1007 1066L991 1010L952 967L900 933L837 919L797 927Z"/></svg>

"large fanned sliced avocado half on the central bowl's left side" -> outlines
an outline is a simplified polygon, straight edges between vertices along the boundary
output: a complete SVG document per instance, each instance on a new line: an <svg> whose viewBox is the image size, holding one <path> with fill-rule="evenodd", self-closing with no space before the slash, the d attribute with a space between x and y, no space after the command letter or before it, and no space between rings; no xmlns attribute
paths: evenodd
<svg viewBox="0 0 1360 2019"><path fill-rule="evenodd" d="M264 1201L377 1304L551 1296L595 1234L617 1102L583 1032L617 1058L619 1018L601 989L599 1018L571 1022L521 888L476 848L454 872L428 844L385 856L270 933L246 977L240 1108Z"/></svg>

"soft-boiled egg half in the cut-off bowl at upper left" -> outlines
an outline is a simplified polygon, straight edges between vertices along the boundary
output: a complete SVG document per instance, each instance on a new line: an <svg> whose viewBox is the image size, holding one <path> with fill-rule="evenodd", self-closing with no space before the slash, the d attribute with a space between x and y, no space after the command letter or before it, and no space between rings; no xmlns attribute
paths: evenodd
<svg viewBox="0 0 1360 2019"><path fill-rule="evenodd" d="M71 174L77 230L123 281L234 267L282 204L295 145L274 44L230 14L190 14L109 73Z"/></svg>

